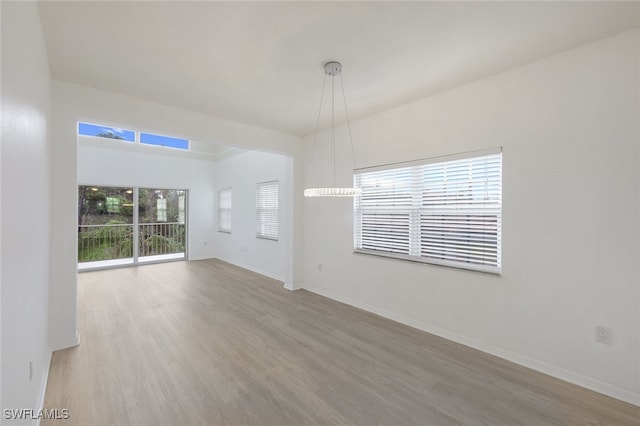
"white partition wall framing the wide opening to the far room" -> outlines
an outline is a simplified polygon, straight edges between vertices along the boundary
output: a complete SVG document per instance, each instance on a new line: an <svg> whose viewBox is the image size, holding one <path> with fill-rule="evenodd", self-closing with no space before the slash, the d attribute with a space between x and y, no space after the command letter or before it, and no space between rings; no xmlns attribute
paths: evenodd
<svg viewBox="0 0 640 426"><path fill-rule="evenodd" d="M52 81L51 88L54 111L51 218L56 226L52 228L51 233L49 317L52 346L54 349L60 349L77 341L75 210L79 166L78 121L181 136L199 142L211 141L238 148L283 153L295 159L301 157L302 150L300 138L296 136L249 124L55 80ZM302 168L296 166L289 169L290 175L298 176L298 182L301 182ZM293 185L292 179L289 182ZM300 199L296 202L300 203ZM215 204L211 207L214 208ZM291 241L288 243L290 252L299 252L299 249L294 250L294 242L297 247L302 245L301 217L302 215L298 215L295 220L286 224L291 228L287 233L287 239ZM199 244L198 237L194 237L192 243ZM202 247L199 246L200 249ZM295 265L291 264L287 269L287 281L301 279L301 268L296 270Z"/></svg>

